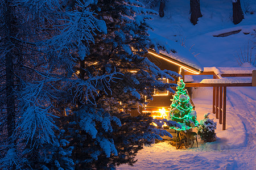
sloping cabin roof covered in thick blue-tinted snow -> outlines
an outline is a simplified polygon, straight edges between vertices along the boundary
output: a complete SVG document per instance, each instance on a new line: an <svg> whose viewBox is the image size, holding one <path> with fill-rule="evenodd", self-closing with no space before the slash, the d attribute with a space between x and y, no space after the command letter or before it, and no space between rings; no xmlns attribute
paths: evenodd
<svg viewBox="0 0 256 170"><path fill-rule="evenodd" d="M181 46L175 41L168 40L153 32L148 33L150 33L150 42L151 45L155 46L154 50L156 53L163 54L164 56L175 59L176 61L179 61L187 66L192 67L193 69L203 72L203 66L200 64L199 61L197 61L196 57L193 56L193 54L189 52L187 48ZM157 45L162 46L162 48L164 48L166 51L158 50L158 48L156 48ZM173 53L172 51L175 53Z"/></svg>

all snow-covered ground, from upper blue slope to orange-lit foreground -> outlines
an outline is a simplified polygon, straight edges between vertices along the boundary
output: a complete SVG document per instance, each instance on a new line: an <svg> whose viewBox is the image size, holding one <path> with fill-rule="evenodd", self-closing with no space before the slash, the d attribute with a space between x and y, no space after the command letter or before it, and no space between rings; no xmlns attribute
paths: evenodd
<svg viewBox="0 0 256 170"><path fill-rule="evenodd" d="M189 1L167 2L164 18L155 16L152 24L155 33L177 41L191 50L204 67L238 67L237 54L247 53L254 47L251 56L255 59L256 1L250 2L254 14L245 14L240 24L232 23L230 0L201 1L203 18L195 26L189 22ZM213 37L220 33L242 29L228 37ZM245 35L243 32L250 32ZM245 50L246 48L246 50ZM244 52L246 51L246 52ZM208 76L193 76L200 82ZM193 90L197 120L212 112L212 88L200 87ZM210 118L214 118L210 114ZM256 169L256 87L228 87L226 130L217 124L217 141L200 141L199 147L176 150L168 142L145 146L137 154L134 167L121 165L118 169ZM216 118L214 118L214 121Z"/></svg>

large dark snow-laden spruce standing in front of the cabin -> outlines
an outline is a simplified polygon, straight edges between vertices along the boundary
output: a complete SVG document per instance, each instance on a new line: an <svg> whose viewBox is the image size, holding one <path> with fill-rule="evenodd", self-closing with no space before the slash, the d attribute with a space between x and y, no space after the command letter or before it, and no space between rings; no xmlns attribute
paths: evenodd
<svg viewBox="0 0 256 170"><path fill-rule="evenodd" d="M72 158L78 169L133 164L134 155L143 143L167 134L150 125L150 117L131 118L127 114L131 107L145 103L144 96L152 99L154 88L172 91L170 87L175 84L164 84L158 78L174 80L172 76L179 76L172 71L161 71L143 57L150 44L147 35L150 25L146 20L154 11L146 10L138 1L98 1L91 7L97 12L96 18L105 21L107 32L94 36L90 54L79 61L78 77L84 80L114 71L120 74L109 84L102 84L94 98L76 96L77 107L71 108L72 114L65 117L70 119L65 131L72 133L68 140L74 147ZM123 134L127 138L122 138Z"/></svg>

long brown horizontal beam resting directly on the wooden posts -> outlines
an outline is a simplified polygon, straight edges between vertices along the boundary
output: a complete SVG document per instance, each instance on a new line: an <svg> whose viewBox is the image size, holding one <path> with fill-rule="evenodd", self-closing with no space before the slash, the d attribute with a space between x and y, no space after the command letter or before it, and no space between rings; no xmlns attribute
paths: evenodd
<svg viewBox="0 0 256 170"><path fill-rule="evenodd" d="M252 83L186 83L186 87L249 87Z"/></svg>

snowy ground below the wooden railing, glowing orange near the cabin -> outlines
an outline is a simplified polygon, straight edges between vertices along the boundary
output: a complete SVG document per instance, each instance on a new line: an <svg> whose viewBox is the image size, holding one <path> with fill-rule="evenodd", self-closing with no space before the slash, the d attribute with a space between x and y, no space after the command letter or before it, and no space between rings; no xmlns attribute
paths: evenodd
<svg viewBox="0 0 256 170"><path fill-rule="evenodd" d="M199 120L212 109L211 90L203 88L195 94L199 96L193 99ZM253 98L256 88L241 87L237 90L229 87L227 95L227 130L222 131L222 126L217 125L216 142L206 145L199 142L199 148L181 150L176 150L168 142L146 146L139 151L134 167L121 165L118 169L256 169L256 100Z"/></svg>

